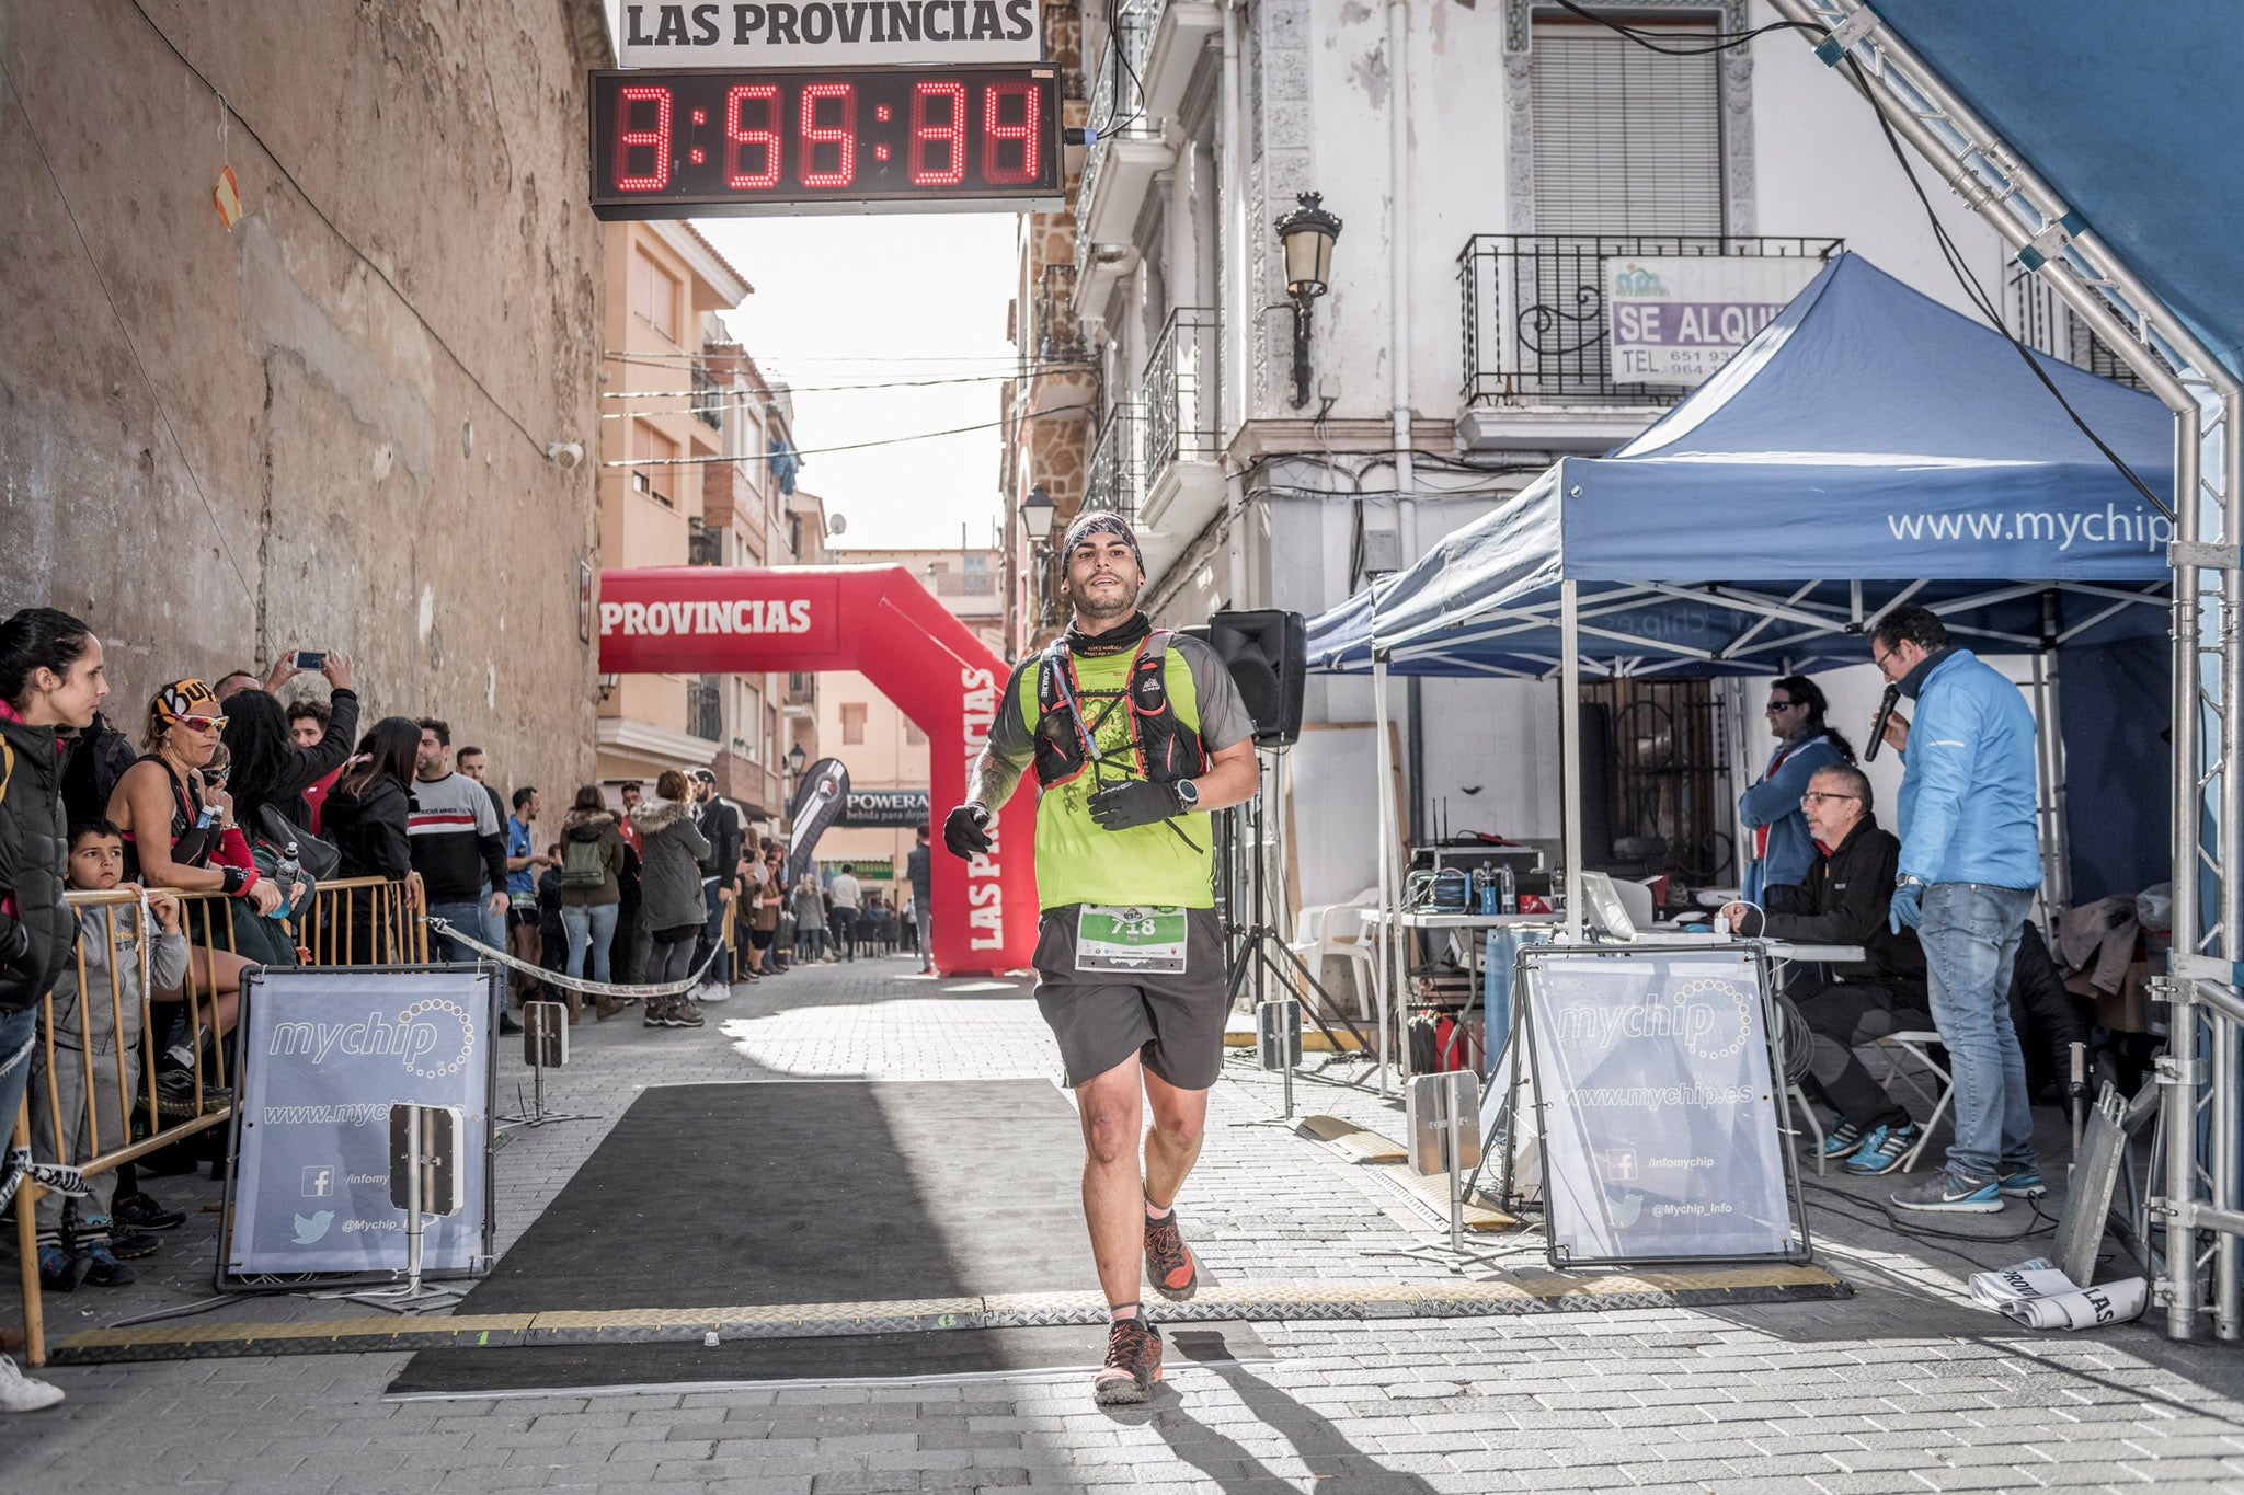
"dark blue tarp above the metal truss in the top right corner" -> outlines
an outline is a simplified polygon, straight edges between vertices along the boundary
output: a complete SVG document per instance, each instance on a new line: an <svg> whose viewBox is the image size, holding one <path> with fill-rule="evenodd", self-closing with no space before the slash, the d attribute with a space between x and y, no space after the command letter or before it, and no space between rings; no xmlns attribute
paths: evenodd
<svg viewBox="0 0 2244 1495"><path fill-rule="evenodd" d="M1876 11L2244 374L2235 0L1878 0Z"/></svg>

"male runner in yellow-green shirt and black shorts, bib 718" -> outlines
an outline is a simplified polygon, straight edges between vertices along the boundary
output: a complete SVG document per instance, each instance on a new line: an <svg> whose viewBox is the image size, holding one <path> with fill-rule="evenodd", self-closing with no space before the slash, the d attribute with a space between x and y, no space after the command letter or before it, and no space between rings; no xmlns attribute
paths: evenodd
<svg viewBox="0 0 2244 1495"><path fill-rule="evenodd" d="M1037 1006L1082 1112L1084 1219L1113 1318L1093 1396L1133 1403L1160 1381L1160 1334L1138 1304L1140 1260L1162 1298L1198 1289L1171 1206L1223 1069L1207 811L1252 798L1259 769L1254 719L1223 659L1138 612L1144 558L1129 524L1086 513L1061 549L1075 621L1014 670L942 845L954 856L987 852L990 818L1034 764Z"/></svg>

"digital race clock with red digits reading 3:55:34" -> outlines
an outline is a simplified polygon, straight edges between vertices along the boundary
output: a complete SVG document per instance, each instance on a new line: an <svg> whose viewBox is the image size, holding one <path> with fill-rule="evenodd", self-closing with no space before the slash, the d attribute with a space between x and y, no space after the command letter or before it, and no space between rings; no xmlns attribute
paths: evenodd
<svg viewBox="0 0 2244 1495"><path fill-rule="evenodd" d="M597 217L1064 202L1050 65L592 74Z"/></svg>

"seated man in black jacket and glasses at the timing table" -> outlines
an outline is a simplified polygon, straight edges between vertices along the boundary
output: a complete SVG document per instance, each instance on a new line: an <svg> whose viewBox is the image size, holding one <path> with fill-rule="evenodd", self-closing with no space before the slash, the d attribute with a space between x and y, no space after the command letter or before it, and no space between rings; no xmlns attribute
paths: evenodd
<svg viewBox="0 0 2244 1495"><path fill-rule="evenodd" d="M1932 1027L1916 930L1894 935L1885 921L1901 843L1878 829L1869 780L1854 764L1818 769L1800 809L1818 847L1806 879L1771 888L1766 914L1750 903L1730 903L1723 912L1741 935L1863 946L1865 959L1829 966L1831 984L1811 988L1800 1013L1815 1033L1809 1071L1838 1107L1822 1154L1847 1157L1847 1172L1858 1177L1892 1172L1916 1145L1916 1123L1869 1078L1854 1047Z"/></svg>

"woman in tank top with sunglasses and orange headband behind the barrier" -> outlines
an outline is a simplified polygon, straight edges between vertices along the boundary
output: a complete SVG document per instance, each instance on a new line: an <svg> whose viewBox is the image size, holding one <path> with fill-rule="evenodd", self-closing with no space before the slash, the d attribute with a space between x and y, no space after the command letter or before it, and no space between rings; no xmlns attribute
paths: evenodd
<svg viewBox="0 0 2244 1495"><path fill-rule="evenodd" d="M110 823L123 832L126 881L177 892L224 892L242 899L254 912L269 914L280 906L283 890L260 879L249 858L249 843L233 825L233 805L222 793L206 791L204 764L211 762L227 717L218 697L200 679L175 679L148 702L148 749L126 769L110 793ZM249 962L231 950L195 946L188 986L211 1000L211 1031L224 1036L233 1027L233 1009ZM182 1018L182 991L153 991L148 1031L168 1033ZM168 1011L166 1011L168 1009ZM157 1053L157 1098L168 1114L195 1114L193 1038L175 1036ZM204 1105L229 1096L204 1087Z"/></svg>

